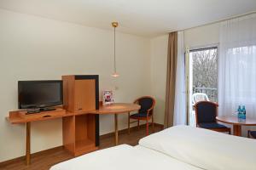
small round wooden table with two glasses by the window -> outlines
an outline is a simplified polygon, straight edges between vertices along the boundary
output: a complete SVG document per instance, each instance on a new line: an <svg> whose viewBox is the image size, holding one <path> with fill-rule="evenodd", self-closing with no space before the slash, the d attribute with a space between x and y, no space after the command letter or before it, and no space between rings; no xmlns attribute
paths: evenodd
<svg viewBox="0 0 256 170"><path fill-rule="evenodd" d="M250 117L238 119L237 116L217 116L216 120L233 125L233 134L236 136L241 136L241 126L256 126L256 119Z"/></svg>

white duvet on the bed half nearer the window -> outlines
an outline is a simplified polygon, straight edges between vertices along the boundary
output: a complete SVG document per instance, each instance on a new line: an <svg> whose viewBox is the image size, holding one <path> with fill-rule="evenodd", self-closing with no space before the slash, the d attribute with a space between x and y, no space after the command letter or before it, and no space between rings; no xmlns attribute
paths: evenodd
<svg viewBox="0 0 256 170"><path fill-rule="evenodd" d="M256 170L256 140L177 126L154 133L139 144L207 170Z"/></svg>

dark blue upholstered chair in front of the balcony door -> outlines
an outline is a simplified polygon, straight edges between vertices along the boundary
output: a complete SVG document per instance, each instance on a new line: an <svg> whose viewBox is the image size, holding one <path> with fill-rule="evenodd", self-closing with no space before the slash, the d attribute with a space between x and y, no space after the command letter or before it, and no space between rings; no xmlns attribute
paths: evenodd
<svg viewBox="0 0 256 170"><path fill-rule="evenodd" d="M218 116L218 104L211 101L195 103L196 127L231 133L230 127L226 127L216 121L216 116Z"/></svg>

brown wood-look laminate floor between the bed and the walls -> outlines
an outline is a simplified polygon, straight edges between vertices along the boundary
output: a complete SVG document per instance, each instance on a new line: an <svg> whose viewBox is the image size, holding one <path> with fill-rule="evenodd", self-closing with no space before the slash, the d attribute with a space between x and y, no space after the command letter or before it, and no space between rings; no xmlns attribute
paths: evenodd
<svg viewBox="0 0 256 170"><path fill-rule="evenodd" d="M159 132L162 129L160 126L154 127L154 132ZM153 133L152 128L149 127L149 133ZM139 139L142 139L146 134L145 127L140 129L133 128L131 133L122 131L119 133L119 144L131 144L137 145ZM100 138L100 150L114 146L113 134L103 135ZM47 150L32 155L32 163L26 166L25 160L17 159L15 161L9 161L4 163L0 170L49 170L49 167L59 163L61 161L67 161L73 158L66 150L62 147L55 148L53 150Z"/></svg>

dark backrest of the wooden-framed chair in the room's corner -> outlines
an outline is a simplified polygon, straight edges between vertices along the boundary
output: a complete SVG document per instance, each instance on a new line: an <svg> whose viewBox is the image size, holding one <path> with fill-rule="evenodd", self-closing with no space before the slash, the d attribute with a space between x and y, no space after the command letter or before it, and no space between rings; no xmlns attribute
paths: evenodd
<svg viewBox="0 0 256 170"><path fill-rule="evenodd" d="M141 109L139 110L139 113L147 113L147 111L149 109L153 109L154 108L154 104L155 104L155 99L150 97L150 96L143 96L139 99L136 99L134 101L134 103L137 103L138 105L141 105ZM152 113L152 111L150 111L150 113Z"/></svg>

